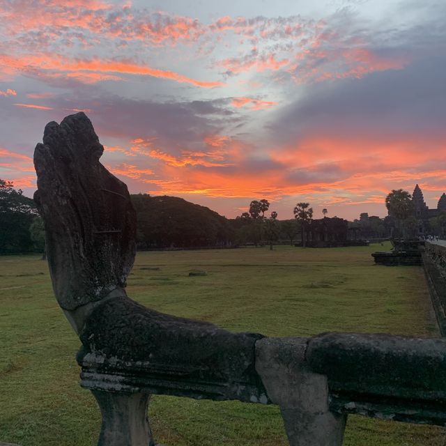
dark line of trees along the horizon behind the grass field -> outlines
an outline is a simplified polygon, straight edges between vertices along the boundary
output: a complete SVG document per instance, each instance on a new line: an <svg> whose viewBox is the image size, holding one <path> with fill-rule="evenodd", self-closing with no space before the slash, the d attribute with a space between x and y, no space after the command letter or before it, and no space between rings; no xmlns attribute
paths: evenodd
<svg viewBox="0 0 446 446"><path fill-rule="evenodd" d="M296 203L293 219L278 220L270 211L267 199L253 200L247 211L235 219L226 219L205 206L178 197L151 197L132 194L137 213L138 249L185 247L234 247L242 245L272 245L281 242L293 245L298 239L305 243L306 232L312 225L314 210L309 203ZM360 220L348 222L360 229L365 238L393 236L407 238L417 233L410 194L392 190L385 199L389 215L384 219L361 214ZM328 210L322 210L327 218ZM365 216L365 217L364 217ZM429 221L432 234L446 235L446 213ZM32 199L13 183L0 179L0 254L45 252L43 221Z"/></svg>

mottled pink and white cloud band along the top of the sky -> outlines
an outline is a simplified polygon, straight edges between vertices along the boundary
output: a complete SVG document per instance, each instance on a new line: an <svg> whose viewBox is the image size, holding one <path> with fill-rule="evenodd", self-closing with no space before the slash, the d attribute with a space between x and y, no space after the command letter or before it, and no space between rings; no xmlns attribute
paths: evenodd
<svg viewBox="0 0 446 446"><path fill-rule="evenodd" d="M326 21L313 21L299 16L249 19L224 16L205 24L192 17L131 5L81 0L63 3L17 0L9 2L2 13L3 33L11 38L0 58L3 78L25 73L94 84L139 75L202 88L225 85L153 68L140 59L131 61L128 54L134 44L165 50L193 45L200 57L211 52L221 54L223 45L230 49L241 41L238 56L217 60L213 68L223 68L231 75L274 72L282 75L276 76L277 79L300 83L363 77L369 72L403 68L408 63L405 59L374 54L367 41L350 36L352 30L333 30L330 17ZM226 35L236 36L238 43ZM79 50L79 45L83 49ZM61 47L70 56L49 56L61 54ZM112 49L116 59L86 57L84 49L101 47Z"/></svg>

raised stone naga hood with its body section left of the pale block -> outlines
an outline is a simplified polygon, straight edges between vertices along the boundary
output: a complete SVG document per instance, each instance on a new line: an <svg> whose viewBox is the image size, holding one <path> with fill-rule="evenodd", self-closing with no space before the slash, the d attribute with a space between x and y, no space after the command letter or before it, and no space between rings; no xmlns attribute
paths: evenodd
<svg viewBox="0 0 446 446"><path fill-rule="evenodd" d="M86 375L82 384L93 390L102 415L110 417L118 415L107 412L118 409L111 409L107 391L139 394L138 407L146 406L153 392L266 403L254 369L254 344L261 334L233 334L128 298L136 215L127 186L100 164L103 150L91 121L80 112L60 125L48 123L34 154L34 199L45 222L54 294L82 341L77 357ZM131 369L151 376L146 392L137 391L141 383L105 384L104 376L128 375ZM150 430L148 425L133 429L133 439L108 438L114 435L103 425L100 445L147 445Z"/></svg>

